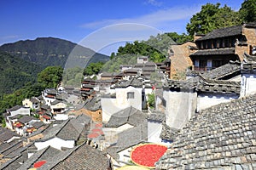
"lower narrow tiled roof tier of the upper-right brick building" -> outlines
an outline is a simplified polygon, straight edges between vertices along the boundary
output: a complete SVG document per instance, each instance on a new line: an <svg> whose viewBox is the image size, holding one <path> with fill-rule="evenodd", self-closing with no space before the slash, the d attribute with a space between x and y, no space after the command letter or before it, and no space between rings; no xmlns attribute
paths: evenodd
<svg viewBox="0 0 256 170"><path fill-rule="evenodd" d="M227 55L227 54L235 54L235 48L218 48L218 49L201 49L196 51L194 54L190 54L190 56L195 55Z"/></svg>

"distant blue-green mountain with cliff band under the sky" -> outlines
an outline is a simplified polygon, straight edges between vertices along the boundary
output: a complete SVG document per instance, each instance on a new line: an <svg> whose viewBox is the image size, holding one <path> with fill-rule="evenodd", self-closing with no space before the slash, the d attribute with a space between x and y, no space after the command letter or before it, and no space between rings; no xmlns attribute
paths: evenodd
<svg viewBox="0 0 256 170"><path fill-rule="evenodd" d="M44 67L50 65L64 67L67 63L66 67L80 66L84 68L89 59L90 62L109 59L107 55L97 54L90 48L84 48L76 43L54 37L38 37L35 40L3 44L0 46L0 51Z"/></svg>

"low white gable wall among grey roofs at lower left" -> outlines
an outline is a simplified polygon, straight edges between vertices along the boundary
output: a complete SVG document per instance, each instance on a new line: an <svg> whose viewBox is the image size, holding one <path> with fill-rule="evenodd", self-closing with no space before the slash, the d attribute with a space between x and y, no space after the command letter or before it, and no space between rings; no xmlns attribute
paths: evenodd
<svg viewBox="0 0 256 170"><path fill-rule="evenodd" d="M74 140L63 140L56 137L44 142L35 142L35 146L38 148L38 150L42 150L48 146L61 150L61 147L73 148L74 144L75 144Z"/></svg>

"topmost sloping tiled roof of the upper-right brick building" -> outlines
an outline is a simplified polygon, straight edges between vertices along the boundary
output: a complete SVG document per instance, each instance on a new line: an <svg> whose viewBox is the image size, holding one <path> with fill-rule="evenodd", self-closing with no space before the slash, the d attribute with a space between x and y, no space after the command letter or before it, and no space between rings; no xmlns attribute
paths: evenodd
<svg viewBox="0 0 256 170"><path fill-rule="evenodd" d="M226 28L220 28L217 30L213 30L207 33L206 36L197 39L195 42L199 42L202 40L214 39L218 37L230 37L230 36L237 36L241 35L242 26L230 26Z"/></svg>

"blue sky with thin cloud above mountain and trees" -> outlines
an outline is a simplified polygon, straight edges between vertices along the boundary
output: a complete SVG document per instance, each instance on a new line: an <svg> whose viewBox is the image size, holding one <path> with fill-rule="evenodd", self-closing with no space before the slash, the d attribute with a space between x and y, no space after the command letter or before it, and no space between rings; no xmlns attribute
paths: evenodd
<svg viewBox="0 0 256 170"><path fill-rule="evenodd" d="M0 45L36 37L59 37L108 54L109 48L119 42L147 39L161 32L186 33L186 24L203 4L227 4L238 10L242 2L1 0Z"/></svg>

